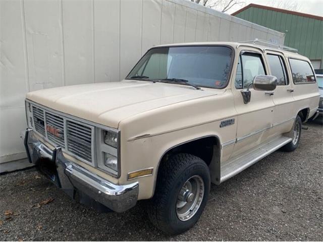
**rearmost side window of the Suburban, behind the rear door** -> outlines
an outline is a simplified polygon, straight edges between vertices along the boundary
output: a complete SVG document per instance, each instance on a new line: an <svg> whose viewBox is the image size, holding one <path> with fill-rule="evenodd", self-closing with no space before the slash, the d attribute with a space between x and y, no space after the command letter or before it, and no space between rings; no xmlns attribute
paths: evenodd
<svg viewBox="0 0 323 242"><path fill-rule="evenodd" d="M315 82L315 76L310 65L300 59L289 59L295 84Z"/></svg>

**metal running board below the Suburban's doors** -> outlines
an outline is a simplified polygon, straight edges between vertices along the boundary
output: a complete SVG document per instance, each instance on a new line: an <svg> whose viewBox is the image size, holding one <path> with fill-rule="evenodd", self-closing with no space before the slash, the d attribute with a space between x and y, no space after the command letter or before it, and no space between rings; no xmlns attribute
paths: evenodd
<svg viewBox="0 0 323 242"><path fill-rule="evenodd" d="M292 139L281 136L278 139L270 141L269 143L263 144L256 149L244 153L239 157L235 157L232 160L226 162L224 166L221 166L221 179L220 183L238 174L249 166L253 165L257 161L273 153L279 148L291 142Z"/></svg>

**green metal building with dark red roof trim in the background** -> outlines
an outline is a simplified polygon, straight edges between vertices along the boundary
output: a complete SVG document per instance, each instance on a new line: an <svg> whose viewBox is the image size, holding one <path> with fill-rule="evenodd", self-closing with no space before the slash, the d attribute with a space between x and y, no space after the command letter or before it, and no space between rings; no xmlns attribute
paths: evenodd
<svg viewBox="0 0 323 242"><path fill-rule="evenodd" d="M232 15L285 33L285 45L307 56L314 69L323 69L323 17L256 4Z"/></svg>

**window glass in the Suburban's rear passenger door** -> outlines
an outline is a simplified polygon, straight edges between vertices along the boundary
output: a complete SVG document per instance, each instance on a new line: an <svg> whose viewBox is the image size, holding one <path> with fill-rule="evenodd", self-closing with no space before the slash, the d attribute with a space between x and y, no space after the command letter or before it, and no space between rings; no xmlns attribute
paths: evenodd
<svg viewBox="0 0 323 242"><path fill-rule="evenodd" d="M277 77L277 85L288 85L285 64L282 56L276 54L267 54L267 59L272 71L272 75Z"/></svg>

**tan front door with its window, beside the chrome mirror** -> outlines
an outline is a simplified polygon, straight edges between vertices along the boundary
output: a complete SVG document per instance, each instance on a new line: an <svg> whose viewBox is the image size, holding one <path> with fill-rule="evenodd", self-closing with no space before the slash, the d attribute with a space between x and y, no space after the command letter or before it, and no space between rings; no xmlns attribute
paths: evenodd
<svg viewBox="0 0 323 242"><path fill-rule="evenodd" d="M232 157L249 151L265 142L270 135L274 118L274 101L270 91L258 91L252 87L257 75L267 75L267 67L260 51L241 50L238 57L235 83L232 87L238 112L236 144ZM244 103L241 91L250 88L250 102Z"/></svg>

